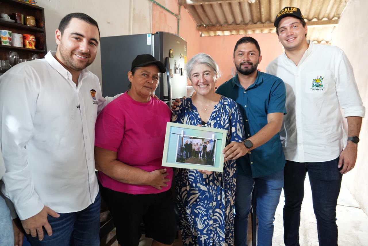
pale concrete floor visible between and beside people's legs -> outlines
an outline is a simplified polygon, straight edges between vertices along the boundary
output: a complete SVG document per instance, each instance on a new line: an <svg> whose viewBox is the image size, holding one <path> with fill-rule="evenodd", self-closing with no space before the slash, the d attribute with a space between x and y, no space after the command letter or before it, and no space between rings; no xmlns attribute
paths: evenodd
<svg viewBox="0 0 368 246"><path fill-rule="evenodd" d="M364 189L362 187L362 189ZM273 233L273 245L281 246L283 243L283 205L284 195L281 194L280 203L276 209L275 215L275 231ZM351 196L344 179L337 201L337 226L339 228L338 243L340 246L368 246L368 216L361 209L358 203ZM251 226L249 225L249 228ZM117 246L115 232L111 232L109 238L101 245ZM300 223L300 245L302 246L318 246L317 226L312 207L312 194L308 177L305 179L305 196L301 210ZM251 229L248 231L248 245L252 245ZM141 238L139 246L150 246L152 239ZM176 240L174 246L182 245L181 240Z"/></svg>

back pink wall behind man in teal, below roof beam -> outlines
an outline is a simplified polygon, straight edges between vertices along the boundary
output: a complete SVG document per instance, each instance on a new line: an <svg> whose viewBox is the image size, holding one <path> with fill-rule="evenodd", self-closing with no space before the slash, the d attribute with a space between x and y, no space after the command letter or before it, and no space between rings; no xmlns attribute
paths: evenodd
<svg viewBox="0 0 368 246"><path fill-rule="evenodd" d="M219 64L222 76L217 85L234 77L236 68L233 63L233 52L236 42L243 36L255 38L261 48L262 61L258 69L266 71L267 65L283 52L282 45L275 33L251 34L251 35L229 35L229 36L206 36L201 37L201 52L207 53Z"/></svg>

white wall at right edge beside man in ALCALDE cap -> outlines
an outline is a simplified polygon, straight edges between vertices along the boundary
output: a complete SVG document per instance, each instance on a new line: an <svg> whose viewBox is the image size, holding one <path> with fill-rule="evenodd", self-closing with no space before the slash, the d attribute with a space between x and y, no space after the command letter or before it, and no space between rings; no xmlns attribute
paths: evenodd
<svg viewBox="0 0 368 246"><path fill-rule="evenodd" d="M367 0L351 0L333 31L332 44L344 50L354 68L360 95L368 112L368 28ZM366 113L366 116L368 114ZM368 213L368 119L363 118L355 168L343 176L355 200Z"/></svg>

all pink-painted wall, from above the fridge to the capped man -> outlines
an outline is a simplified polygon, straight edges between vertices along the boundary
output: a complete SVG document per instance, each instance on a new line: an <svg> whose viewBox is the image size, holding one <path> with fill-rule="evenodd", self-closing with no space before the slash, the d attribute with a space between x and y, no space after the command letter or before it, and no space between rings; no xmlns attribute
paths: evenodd
<svg viewBox="0 0 368 246"><path fill-rule="evenodd" d="M179 9L177 1L159 0L158 2L175 14L178 14ZM219 64L220 71L222 72L222 77L217 82L217 86L232 78L236 71L233 63L234 46L238 39L244 35L201 37L200 33L196 30L195 22L183 6L181 6L180 15L179 36L184 38L188 43L188 60L199 52L207 53ZM160 6L153 4L152 33L158 31L176 34L177 21L174 15L170 14ZM252 34L248 36L255 38L261 47L263 59L258 65L258 69L264 72L268 63L283 52L282 45L278 41L277 35L274 33Z"/></svg>

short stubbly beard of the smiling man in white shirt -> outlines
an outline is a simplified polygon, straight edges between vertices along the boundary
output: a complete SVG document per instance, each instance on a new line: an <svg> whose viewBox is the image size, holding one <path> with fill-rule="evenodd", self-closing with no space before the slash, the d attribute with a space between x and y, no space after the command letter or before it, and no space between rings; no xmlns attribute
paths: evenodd
<svg viewBox="0 0 368 246"><path fill-rule="evenodd" d="M60 56L61 56L64 66L74 71L82 71L84 68L91 65L93 60L95 60L95 58L92 58L89 53L80 52L78 50L73 50L72 52L69 52L68 50L64 50L61 44L60 44L59 49L60 49ZM79 56L85 56L88 59L85 62L82 62L82 61L78 62L74 60L74 54L79 55Z"/></svg>

